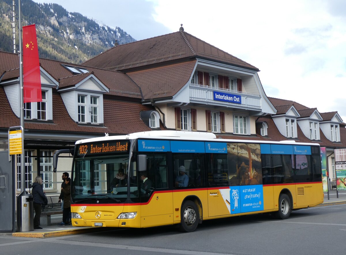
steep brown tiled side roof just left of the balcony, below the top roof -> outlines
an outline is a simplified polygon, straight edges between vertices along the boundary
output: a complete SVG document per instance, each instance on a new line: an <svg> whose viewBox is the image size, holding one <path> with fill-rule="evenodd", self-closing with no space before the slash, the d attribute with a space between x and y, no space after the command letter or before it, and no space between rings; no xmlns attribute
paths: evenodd
<svg viewBox="0 0 346 255"><path fill-rule="evenodd" d="M175 95L190 80L196 61L127 73L143 92L144 100Z"/></svg>

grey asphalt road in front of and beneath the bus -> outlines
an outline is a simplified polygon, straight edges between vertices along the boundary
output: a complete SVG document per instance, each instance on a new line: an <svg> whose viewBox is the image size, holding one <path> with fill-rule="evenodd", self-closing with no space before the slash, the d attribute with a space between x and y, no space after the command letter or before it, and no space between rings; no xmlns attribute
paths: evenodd
<svg viewBox="0 0 346 255"><path fill-rule="evenodd" d="M293 211L287 220L251 215L175 227L105 229L47 239L0 236L1 254L343 254L346 204Z"/></svg>

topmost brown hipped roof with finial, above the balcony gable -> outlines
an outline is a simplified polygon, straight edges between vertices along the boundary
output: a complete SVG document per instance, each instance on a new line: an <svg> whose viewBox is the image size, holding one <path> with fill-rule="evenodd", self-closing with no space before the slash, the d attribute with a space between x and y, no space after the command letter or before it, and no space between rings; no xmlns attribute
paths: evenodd
<svg viewBox="0 0 346 255"><path fill-rule="evenodd" d="M110 70L125 70L183 58L195 59L196 57L222 61L258 71L257 67L183 31L112 47L86 61L84 65Z"/></svg>

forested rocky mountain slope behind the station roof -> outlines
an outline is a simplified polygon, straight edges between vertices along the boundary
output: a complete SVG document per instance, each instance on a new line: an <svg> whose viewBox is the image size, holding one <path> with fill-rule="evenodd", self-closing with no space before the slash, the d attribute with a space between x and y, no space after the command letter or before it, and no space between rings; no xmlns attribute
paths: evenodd
<svg viewBox="0 0 346 255"><path fill-rule="evenodd" d="M18 6L15 12L18 48ZM55 3L39 4L32 0L21 0L21 12L22 26L36 24L38 53L42 58L79 64L113 47L116 40L118 44L135 41L119 27L100 25L78 12L68 12ZM12 0L0 0L2 51L13 52L11 21Z"/></svg>

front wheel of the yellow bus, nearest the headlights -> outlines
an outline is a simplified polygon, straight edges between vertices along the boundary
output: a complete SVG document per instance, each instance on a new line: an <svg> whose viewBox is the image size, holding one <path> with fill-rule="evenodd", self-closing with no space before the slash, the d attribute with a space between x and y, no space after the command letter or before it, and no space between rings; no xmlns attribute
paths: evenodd
<svg viewBox="0 0 346 255"><path fill-rule="evenodd" d="M199 211L196 204L190 200L185 201L181 207L180 217L180 230L182 232L194 231L199 222Z"/></svg>

